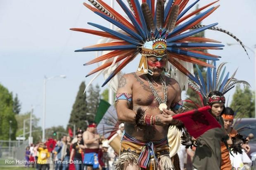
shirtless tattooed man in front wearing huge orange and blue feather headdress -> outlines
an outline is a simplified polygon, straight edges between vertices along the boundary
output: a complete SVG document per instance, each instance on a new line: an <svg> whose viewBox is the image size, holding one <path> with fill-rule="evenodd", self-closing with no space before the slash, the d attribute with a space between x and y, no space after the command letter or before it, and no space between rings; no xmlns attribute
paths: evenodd
<svg viewBox="0 0 256 170"><path fill-rule="evenodd" d="M218 43L216 40L192 37L206 29L223 32L214 27L218 23L207 26L197 25L218 6L201 11L217 1L188 13L199 0L188 7L186 5L189 0L157 0L156 5L155 0L142 0L141 6L139 0L127 0L130 9L123 0L116 0L130 21L103 0L89 1L95 8L84 3L86 7L120 29L114 31L94 23L88 24L102 31L71 29L109 38L107 43L76 50L76 52L111 51L84 64L86 66L104 61L87 76L97 72L99 74L110 68L112 71L102 85L104 86L123 67L141 54L137 72L122 76L116 92L117 115L120 122L125 123L121 153L115 163L116 169L172 170L167 132L170 124L178 123L178 120L173 120L172 116L175 115L173 111L182 107L181 89L187 87L188 78L196 81L192 75L192 64L213 67L199 59L218 60L219 58L198 50L221 50L223 47L221 44L216 44ZM201 13L198 14L199 12ZM170 66L171 76L175 79L164 75L164 73L168 75Z"/></svg>

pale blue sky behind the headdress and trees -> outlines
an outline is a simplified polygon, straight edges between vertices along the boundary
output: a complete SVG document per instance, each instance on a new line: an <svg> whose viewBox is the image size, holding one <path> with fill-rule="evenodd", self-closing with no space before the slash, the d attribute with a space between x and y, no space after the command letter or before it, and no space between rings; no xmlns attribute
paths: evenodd
<svg viewBox="0 0 256 170"><path fill-rule="evenodd" d="M83 2L86 0L0 1L0 83L18 94L22 103L21 113L29 111L32 104L39 104L34 113L42 118L44 76L67 76L66 79L56 78L47 82L46 127L66 126L80 83L88 83L93 77L85 78L85 75L95 65L83 64L95 53L73 51L95 44L100 37L69 31L69 28L92 28L87 22L109 26L107 21L84 7ZM213 0L201 0L199 4L203 6L210 2ZM220 0L217 4L220 7L202 24L218 22L218 26L234 33L246 46L255 50L255 0ZM117 3L115 8L120 11ZM208 30L205 35L222 41L224 45L236 43L216 31ZM224 50L212 53L222 56L220 62L229 62L227 69L231 73L238 67L236 78L247 80L255 89L254 54L250 50L248 52L251 59L239 45L226 46ZM138 60L126 66L124 72L135 71L134 65ZM97 78L94 84L101 85L102 78ZM227 97L231 98L233 92L231 90Z"/></svg>

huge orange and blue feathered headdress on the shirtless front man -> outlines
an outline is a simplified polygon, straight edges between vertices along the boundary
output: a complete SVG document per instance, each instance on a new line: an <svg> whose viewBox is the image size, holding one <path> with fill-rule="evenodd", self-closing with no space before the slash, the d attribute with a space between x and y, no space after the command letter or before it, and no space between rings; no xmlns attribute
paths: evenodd
<svg viewBox="0 0 256 170"><path fill-rule="evenodd" d="M102 66L88 73L87 76L120 62L102 86L107 84L116 73L121 71L139 53L142 54L142 58L137 69L138 72L149 73L147 69L147 56L149 54L158 57L166 56L172 66L194 81L196 80L191 71L187 70L186 64L181 63L187 62L212 67L211 64L199 59L216 61L219 58L219 56L199 51L201 49L221 50L222 48L220 47L223 47L223 45L216 44L219 43L218 41L209 38L192 37L192 35L206 29L215 28L214 26L218 24L214 23L207 26L197 25L219 7L218 5L206 9L218 0L191 13L188 13L189 9L197 4L199 0L196 0L188 7L186 5L189 0L168 0L167 2L165 0L157 0L156 5L155 0L142 0L142 5L140 5L139 0L127 0L130 9L125 5L123 0L116 0L128 16L128 19L107 5L103 0L88 1L94 7L86 3L83 4L95 14L106 19L121 30L114 31L90 22L88 23L89 25L99 28L102 31L71 28L73 31L81 31L114 40L109 43L101 43L76 50L76 52L110 51L84 65L113 58L112 61L105 62ZM203 11L204 9L206 10Z"/></svg>

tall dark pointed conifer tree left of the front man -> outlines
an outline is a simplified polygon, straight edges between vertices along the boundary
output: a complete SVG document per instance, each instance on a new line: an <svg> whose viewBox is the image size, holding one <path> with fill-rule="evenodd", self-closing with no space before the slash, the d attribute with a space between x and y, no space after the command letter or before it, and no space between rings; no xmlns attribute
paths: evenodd
<svg viewBox="0 0 256 170"><path fill-rule="evenodd" d="M73 108L71 111L71 115L69 118L69 123L76 124L76 130L78 128L85 130L87 128L87 124L85 120L92 121L92 116L87 115L87 101L86 101L86 93L83 93L85 90L85 82L83 81L79 87L78 93L76 95L76 100L73 104Z"/></svg>

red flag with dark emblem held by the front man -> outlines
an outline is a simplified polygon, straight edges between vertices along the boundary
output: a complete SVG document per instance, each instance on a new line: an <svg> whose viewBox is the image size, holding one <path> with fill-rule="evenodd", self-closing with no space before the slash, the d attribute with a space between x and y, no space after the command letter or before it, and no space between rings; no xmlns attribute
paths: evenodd
<svg viewBox="0 0 256 170"><path fill-rule="evenodd" d="M211 109L211 106L204 106L174 115L173 118L181 120L187 128L187 132L189 132L192 137L197 138L207 130L221 127L216 118L209 113L209 109Z"/></svg>

